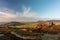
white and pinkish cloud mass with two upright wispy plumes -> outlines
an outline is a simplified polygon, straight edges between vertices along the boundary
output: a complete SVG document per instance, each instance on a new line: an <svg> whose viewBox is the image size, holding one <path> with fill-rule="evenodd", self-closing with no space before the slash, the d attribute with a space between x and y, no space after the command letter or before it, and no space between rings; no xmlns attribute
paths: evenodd
<svg viewBox="0 0 60 40"><path fill-rule="evenodd" d="M22 12L17 12L6 7L0 9L0 22L7 21L20 21L32 22L37 21L39 18L36 12L30 11L30 7L22 6Z"/></svg>

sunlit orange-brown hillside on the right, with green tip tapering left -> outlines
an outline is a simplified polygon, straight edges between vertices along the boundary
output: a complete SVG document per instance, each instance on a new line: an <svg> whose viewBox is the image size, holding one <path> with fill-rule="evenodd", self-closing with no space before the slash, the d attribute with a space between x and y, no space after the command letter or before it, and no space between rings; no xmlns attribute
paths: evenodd
<svg viewBox="0 0 60 40"><path fill-rule="evenodd" d="M57 22L56 22L57 24ZM33 22L16 28L31 29L33 32L44 32L44 33L60 33L60 25L56 25L55 22Z"/></svg>

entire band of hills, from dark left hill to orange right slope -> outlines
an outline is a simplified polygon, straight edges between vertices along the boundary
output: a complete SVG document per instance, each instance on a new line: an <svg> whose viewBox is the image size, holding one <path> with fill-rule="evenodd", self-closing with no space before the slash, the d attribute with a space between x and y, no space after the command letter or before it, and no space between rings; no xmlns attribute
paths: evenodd
<svg viewBox="0 0 60 40"><path fill-rule="evenodd" d="M60 22L59 22L60 23ZM43 33L60 33L60 24L58 22L51 22L51 21L38 21L32 23L20 23L20 22L9 22L0 27L10 27L10 28L17 28L17 29L28 29L32 32L43 32Z"/></svg>

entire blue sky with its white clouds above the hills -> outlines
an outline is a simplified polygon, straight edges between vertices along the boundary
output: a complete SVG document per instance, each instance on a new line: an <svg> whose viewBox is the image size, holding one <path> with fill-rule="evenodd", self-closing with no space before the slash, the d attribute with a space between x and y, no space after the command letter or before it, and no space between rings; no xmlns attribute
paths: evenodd
<svg viewBox="0 0 60 40"><path fill-rule="evenodd" d="M0 0L0 22L60 20L60 0Z"/></svg>

